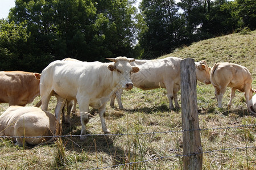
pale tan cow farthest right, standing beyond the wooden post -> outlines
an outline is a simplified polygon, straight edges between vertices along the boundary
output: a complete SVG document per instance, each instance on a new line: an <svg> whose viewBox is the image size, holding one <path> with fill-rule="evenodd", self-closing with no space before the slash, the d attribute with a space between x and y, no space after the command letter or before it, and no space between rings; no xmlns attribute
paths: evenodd
<svg viewBox="0 0 256 170"><path fill-rule="evenodd" d="M248 103L253 96L253 92L255 92L255 90L251 88L253 78L251 78L250 72L246 67L235 63L216 63L210 71L210 82L215 88L215 96L217 98L219 108L221 108L222 97L226 91L226 87L231 87L228 107L231 107L232 99L235 96L236 90L245 93L246 103Z"/></svg>

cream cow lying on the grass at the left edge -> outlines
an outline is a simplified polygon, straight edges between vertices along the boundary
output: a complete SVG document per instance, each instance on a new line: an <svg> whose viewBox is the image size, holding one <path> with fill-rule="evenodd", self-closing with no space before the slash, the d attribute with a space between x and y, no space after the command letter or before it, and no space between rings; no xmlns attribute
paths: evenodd
<svg viewBox="0 0 256 170"><path fill-rule="evenodd" d="M0 116L0 134L7 137L51 136L55 133L55 130L55 116L37 107L13 105L7 108ZM30 145L42 145L52 140L53 137L16 138L15 145L23 146L26 143Z"/></svg>

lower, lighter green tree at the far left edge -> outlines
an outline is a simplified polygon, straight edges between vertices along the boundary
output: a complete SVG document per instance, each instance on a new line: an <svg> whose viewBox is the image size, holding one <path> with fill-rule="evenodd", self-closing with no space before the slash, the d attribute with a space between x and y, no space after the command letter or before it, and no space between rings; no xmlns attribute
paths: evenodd
<svg viewBox="0 0 256 170"><path fill-rule="evenodd" d="M15 24L0 20L0 69L39 72L51 59L49 55L40 56L40 49L31 40L26 22ZM39 54L37 54L39 53Z"/></svg>

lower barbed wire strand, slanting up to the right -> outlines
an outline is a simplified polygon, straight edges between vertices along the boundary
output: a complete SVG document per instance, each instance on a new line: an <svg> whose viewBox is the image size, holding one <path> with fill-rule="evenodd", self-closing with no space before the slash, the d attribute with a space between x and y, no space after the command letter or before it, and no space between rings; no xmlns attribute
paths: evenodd
<svg viewBox="0 0 256 170"><path fill-rule="evenodd" d="M179 157L179 156L195 156L195 155L199 155L199 154L209 154L209 153L218 152L218 151L238 150L238 149L247 149L247 148L256 148L256 146L223 148L223 149L220 149L220 150L204 151L204 152L202 152L202 153L194 153L194 154L189 154L189 155L177 155L177 154L176 154L176 155L172 155L172 156L160 156L160 157L157 157L157 158L141 160L141 161L138 161L138 162L130 162L130 163L118 164L118 165L109 165L109 166L106 166L106 167L90 168L90 169L86 169L86 170L114 168L114 167L120 167L120 166L127 166L127 165L131 165L131 164L138 164L138 163L150 162L150 161L153 161L153 160L168 159L168 158L172 158L172 157Z"/></svg>

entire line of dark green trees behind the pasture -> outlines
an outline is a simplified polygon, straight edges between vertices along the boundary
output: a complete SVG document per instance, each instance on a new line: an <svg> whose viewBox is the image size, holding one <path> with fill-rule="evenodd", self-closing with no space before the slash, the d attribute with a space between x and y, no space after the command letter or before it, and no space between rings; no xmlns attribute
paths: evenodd
<svg viewBox="0 0 256 170"><path fill-rule="evenodd" d="M0 19L0 69L40 73L56 59L152 59L256 27L254 0L16 0Z"/></svg>

